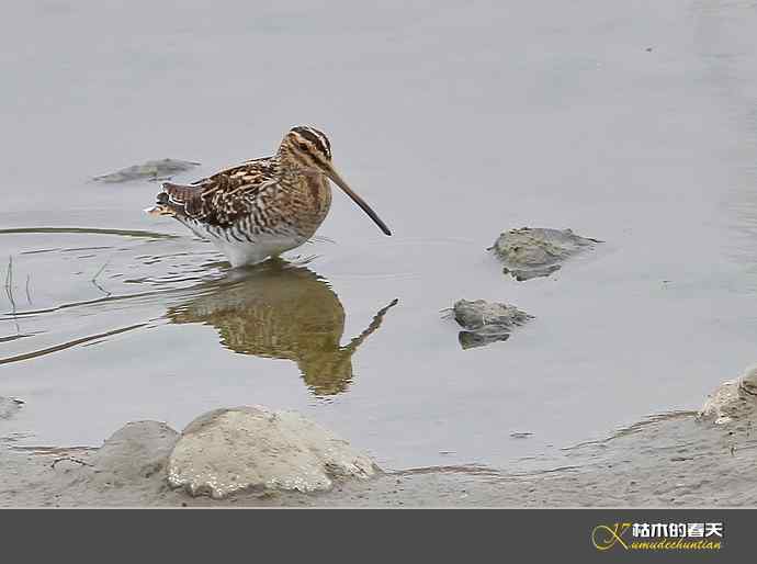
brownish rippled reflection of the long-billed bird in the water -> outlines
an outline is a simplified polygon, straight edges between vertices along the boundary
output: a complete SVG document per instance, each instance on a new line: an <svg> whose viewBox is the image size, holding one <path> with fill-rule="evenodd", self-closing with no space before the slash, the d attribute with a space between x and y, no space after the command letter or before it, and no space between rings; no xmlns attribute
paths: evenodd
<svg viewBox="0 0 757 564"><path fill-rule="evenodd" d="M174 324L202 323L218 330L221 342L241 354L297 363L305 383L319 396L344 392L352 381L352 354L382 324L394 300L346 346L344 308L326 280L305 267L269 260L233 271L207 293L168 311Z"/></svg>

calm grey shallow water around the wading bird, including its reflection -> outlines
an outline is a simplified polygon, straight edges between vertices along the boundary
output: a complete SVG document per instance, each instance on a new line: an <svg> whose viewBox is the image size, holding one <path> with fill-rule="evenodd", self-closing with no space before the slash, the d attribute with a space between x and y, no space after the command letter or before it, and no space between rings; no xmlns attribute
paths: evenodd
<svg viewBox="0 0 757 564"><path fill-rule="evenodd" d="M518 467L755 362L754 3L182 5L9 8L0 395L25 405L0 436L262 404L387 467ZM229 271L142 213L155 182L90 180L165 157L201 178L297 123L392 238L336 193L290 266ZM524 225L607 242L517 282L485 249ZM461 297L536 318L462 350Z"/></svg>

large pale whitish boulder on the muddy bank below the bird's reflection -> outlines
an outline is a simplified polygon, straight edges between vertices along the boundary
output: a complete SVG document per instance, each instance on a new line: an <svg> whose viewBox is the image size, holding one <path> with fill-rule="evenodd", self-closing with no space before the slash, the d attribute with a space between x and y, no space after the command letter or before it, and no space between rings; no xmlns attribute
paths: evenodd
<svg viewBox="0 0 757 564"><path fill-rule="evenodd" d="M168 482L190 495L226 497L245 489L330 489L334 478L368 478L380 469L347 441L294 411L215 409L181 433Z"/></svg>

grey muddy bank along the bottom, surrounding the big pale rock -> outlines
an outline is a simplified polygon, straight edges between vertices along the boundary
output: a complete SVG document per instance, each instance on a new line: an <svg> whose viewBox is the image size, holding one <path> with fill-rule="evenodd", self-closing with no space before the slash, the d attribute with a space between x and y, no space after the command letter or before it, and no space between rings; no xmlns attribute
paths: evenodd
<svg viewBox="0 0 757 564"><path fill-rule="evenodd" d="M653 417L607 440L565 449L549 471L387 471L336 482L325 493L255 490L226 499L169 487L166 462L178 435L155 421L129 424L131 431L114 436L122 440L99 450L0 445L0 506L754 506L754 409L727 425L694 413Z"/></svg>

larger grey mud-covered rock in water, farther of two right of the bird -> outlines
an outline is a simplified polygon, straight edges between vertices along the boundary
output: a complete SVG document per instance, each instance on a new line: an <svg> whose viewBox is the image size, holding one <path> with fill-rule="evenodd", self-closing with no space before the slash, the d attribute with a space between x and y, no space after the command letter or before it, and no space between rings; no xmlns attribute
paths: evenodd
<svg viewBox="0 0 757 564"><path fill-rule="evenodd" d="M502 233L489 250L502 261L506 274L524 281L549 277L565 259L597 242L601 241L580 237L572 229L522 227Z"/></svg>

